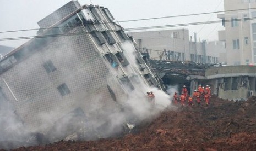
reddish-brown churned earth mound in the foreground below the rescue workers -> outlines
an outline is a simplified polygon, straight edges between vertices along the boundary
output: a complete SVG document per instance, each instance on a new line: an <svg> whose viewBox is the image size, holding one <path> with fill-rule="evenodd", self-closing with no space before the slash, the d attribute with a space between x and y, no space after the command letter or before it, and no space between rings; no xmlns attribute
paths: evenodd
<svg viewBox="0 0 256 151"><path fill-rule="evenodd" d="M97 141L59 141L13 150L256 150L256 97L167 108L139 132ZM1 150L1 149L0 149Z"/></svg>

